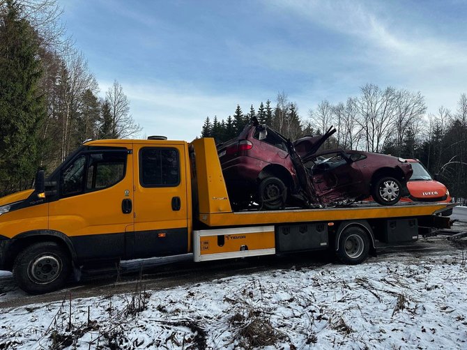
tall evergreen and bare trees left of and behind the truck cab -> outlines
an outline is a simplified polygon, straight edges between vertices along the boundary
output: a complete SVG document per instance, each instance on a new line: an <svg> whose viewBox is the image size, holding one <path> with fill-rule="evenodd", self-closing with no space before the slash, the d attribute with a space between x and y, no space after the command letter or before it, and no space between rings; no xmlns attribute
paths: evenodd
<svg viewBox="0 0 467 350"><path fill-rule="evenodd" d="M0 1L0 195L29 188L85 139L140 130L121 84L98 98L60 16L54 0Z"/></svg>

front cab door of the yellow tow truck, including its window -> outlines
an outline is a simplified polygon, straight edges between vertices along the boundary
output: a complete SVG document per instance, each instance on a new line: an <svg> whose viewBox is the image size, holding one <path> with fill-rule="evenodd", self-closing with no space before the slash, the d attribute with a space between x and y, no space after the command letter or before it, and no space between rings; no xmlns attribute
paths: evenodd
<svg viewBox="0 0 467 350"><path fill-rule="evenodd" d="M70 237L80 260L125 257L133 227L131 144L89 147L63 164L49 229Z"/></svg>

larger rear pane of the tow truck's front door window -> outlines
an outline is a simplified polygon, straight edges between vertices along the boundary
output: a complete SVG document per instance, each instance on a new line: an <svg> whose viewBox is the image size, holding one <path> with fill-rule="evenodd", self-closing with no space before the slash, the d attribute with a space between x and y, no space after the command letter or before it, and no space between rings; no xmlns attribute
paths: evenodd
<svg viewBox="0 0 467 350"><path fill-rule="evenodd" d="M125 177L125 152L91 153L86 176L86 192L109 188Z"/></svg>

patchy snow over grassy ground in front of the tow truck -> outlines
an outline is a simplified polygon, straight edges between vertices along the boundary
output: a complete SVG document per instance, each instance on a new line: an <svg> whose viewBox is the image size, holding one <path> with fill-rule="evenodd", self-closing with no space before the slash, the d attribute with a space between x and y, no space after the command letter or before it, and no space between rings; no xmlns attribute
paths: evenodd
<svg viewBox="0 0 467 350"><path fill-rule="evenodd" d="M392 254L3 309L0 349L466 349L467 254Z"/></svg>

